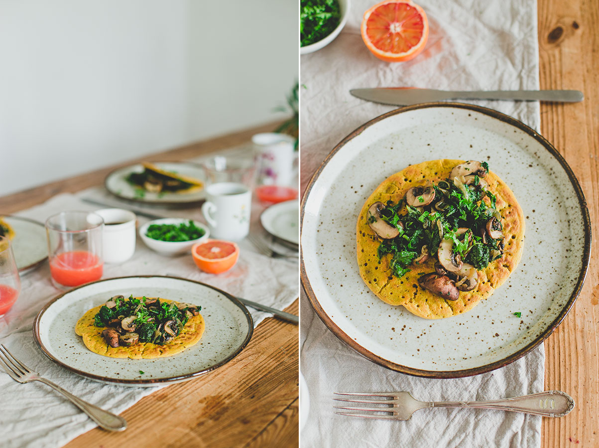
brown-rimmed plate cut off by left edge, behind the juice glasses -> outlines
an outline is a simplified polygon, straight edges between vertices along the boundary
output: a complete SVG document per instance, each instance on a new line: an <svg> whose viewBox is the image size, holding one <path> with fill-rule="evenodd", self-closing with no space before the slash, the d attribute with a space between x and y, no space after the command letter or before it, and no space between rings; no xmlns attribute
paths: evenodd
<svg viewBox="0 0 599 448"><path fill-rule="evenodd" d="M48 246L44 225L20 216L4 215L4 219L14 230L13 253L19 274L28 273L46 261Z"/></svg>

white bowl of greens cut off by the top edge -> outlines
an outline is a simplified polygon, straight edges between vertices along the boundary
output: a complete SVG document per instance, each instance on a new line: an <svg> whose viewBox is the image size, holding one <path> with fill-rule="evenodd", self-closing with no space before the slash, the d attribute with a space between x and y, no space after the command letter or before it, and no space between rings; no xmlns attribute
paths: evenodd
<svg viewBox="0 0 599 448"><path fill-rule="evenodd" d="M350 0L301 0L299 54L316 52L330 44L347 22Z"/></svg>

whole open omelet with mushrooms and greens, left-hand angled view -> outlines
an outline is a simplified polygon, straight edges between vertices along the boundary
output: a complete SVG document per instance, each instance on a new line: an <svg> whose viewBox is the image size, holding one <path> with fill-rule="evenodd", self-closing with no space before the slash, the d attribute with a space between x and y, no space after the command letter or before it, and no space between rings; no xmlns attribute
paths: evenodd
<svg viewBox="0 0 599 448"><path fill-rule="evenodd" d="M83 314L75 333L98 355L163 358L198 343L204 333L200 310L168 299L118 295Z"/></svg>

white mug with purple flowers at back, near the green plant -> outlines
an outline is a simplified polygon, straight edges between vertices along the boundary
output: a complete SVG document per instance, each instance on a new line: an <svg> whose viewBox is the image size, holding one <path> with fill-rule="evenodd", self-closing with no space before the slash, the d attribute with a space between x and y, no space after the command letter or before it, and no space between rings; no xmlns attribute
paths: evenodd
<svg viewBox="0 0 599 448"><path fill-rule="evenodd" d="M258 162L258 183L289 186L297 174L295 138L277 132L263 132L252 136Z"/></svg>

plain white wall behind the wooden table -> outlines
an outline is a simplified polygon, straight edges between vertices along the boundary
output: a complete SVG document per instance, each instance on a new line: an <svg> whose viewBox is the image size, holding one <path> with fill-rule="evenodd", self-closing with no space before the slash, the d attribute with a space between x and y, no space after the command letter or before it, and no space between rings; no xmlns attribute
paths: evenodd
<svg viewBox="0 0 599 448"><path fill-rule="evenodd" d="M0 0L0 195L279 119L295 0Z"/></svg>

